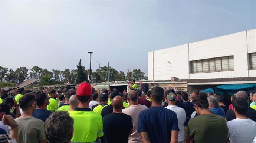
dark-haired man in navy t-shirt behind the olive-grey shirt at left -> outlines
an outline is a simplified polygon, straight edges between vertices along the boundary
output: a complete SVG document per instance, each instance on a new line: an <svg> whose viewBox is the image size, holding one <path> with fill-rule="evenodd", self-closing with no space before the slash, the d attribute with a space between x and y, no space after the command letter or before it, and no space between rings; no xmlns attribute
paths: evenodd
<svg viewBox="0 0 256 143"><path fill-rule="evenodd" d="M33 117L42 120L45 120L49 117L52 113L46 109L47 105L49 105L49 96L46 93L40 93L36 95L36 108L32 114Z"/></svg>

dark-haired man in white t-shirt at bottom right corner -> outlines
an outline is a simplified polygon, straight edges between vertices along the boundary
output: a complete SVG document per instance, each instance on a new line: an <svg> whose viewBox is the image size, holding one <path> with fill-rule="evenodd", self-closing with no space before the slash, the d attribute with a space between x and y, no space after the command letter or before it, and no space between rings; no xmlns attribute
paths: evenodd
<svg viewBox="0 0 256 143"><path fill-rule="evenodd" d="M256 122L246 117L248 102L243 98L232 101L236 119L227 122L230 143L251 143L256 135Z"/></svg>

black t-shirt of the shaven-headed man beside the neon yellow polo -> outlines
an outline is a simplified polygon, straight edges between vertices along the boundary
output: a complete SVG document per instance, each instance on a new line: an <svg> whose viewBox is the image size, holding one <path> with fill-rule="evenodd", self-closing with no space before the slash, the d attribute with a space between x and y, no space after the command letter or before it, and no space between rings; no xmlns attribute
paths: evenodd
<svg viewBox="0 0 256 143"><path fill-rule="evenodd" d="M132 129L131 116L124 113L111 113L104 116L102 122L105 143L128 143Z"/></svg>

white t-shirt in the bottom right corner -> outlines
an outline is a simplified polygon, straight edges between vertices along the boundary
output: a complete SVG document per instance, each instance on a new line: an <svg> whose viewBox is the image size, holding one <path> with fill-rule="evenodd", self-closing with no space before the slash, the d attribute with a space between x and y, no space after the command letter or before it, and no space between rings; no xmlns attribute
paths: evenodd
<svg viewBox="0 0 256 143"><path fill-rule="evenodd" d="M227 122L230 143L252 143L256 135L256 122L236 118Z"/></svg>

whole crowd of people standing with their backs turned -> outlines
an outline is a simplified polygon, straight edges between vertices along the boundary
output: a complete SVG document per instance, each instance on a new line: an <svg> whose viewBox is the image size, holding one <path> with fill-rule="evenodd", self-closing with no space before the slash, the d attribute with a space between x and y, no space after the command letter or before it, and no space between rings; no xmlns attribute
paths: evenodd
<svg viewBox="0 0 256 143"><path fill-rule="evenodd" d="M1 90L0 142L256 143L256 91ZM136 85L136 84L135 84ZM225 103L224 103L225 102Z"/></svg>

